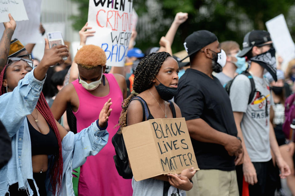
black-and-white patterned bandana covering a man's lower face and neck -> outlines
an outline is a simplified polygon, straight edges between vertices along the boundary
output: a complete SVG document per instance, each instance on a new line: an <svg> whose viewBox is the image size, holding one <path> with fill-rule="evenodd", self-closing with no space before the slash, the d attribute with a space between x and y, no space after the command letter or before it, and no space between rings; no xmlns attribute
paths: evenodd
<svg viewBox="0 0 295 196"><path fill-rule="evenodd" d="M274 48L270 48L260 55L253 56L250 60L265 68L271 74L274 81L277 82L276 50Z"/></svg>

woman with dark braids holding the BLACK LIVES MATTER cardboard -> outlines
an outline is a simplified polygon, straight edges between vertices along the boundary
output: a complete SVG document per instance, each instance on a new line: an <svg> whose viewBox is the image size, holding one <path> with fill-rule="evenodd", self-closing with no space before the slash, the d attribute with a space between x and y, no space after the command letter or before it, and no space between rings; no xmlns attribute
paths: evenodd
<svg viewBox="0 0 295 196"><path fill-rule="evenodd" d="M181 117L179 107L169 101L177 92L178 72L177 61L167 52L151 53L143 58L134 73L134 90L123 102L120 126L154 118ZM174 187L185 194L184 190L193 187L189 179L195 172L191 168L180 175L161 175L138 182L132 179L133 195L167 195Z"/></svg>

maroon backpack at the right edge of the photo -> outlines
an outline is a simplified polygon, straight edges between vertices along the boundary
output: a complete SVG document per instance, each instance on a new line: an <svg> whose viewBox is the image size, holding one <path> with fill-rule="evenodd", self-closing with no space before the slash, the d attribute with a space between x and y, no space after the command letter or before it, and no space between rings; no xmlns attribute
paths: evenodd
<svg viewBox="0 0 295 196"><path fill-rule="evenodd" d="M290 135L290 125L292 120L295 119L295 94L291 94L285 101L285 122L283 124L283 132L285 138L292 140L292 135Z"/></svg>

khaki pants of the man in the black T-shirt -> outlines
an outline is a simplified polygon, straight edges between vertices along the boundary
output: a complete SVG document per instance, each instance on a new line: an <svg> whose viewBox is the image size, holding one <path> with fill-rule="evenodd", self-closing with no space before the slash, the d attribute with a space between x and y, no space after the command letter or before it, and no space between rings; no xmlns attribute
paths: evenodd
<svg viewBox="0 0 295 196"><path fill-rule="evenodd" d="M186 196L239 196L236 171L199 170Z"/></svg>

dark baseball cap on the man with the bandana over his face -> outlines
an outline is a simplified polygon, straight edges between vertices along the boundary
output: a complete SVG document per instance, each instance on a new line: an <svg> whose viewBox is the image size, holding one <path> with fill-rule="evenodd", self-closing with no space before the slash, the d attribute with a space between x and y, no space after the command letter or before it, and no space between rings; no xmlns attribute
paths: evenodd
<svg viewBox="0 0 295 196"><path fill-rule="evenodd" d="M253 30L248 32L243 41L243 49L239 53L239 57L244 57L254 47L259 44L271 41L269 32L265 30Z"/></svg>

